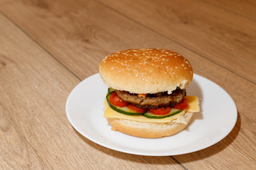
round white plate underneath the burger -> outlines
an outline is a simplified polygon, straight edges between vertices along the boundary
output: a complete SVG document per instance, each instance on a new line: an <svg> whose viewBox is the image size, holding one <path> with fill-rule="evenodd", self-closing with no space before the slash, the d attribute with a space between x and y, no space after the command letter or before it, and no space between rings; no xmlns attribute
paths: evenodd
<svg viewBox="0 0 256 170"><path fill-rule="evenodd" d="M226 91L213 81L194 74L187 94L201 98L201 112L194 113L190 125L171 137L132 137L111 130L111 126L103 118L102 104L106 94L107 87L99 74L81 81L68 96L68 120L87 139L130 154L166 156L210 147L228 135L238 116L235 103Z"/></svg>

